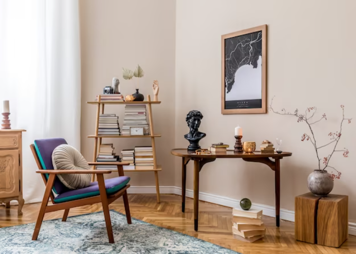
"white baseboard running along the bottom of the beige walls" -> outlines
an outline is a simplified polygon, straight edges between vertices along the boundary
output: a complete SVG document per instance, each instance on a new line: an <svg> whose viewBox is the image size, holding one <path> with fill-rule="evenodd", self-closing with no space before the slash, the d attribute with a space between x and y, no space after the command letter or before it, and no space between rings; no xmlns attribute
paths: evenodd
<svg viewBox="0 0 356 254"><path fill-rule="evenodd" d="M127 191L129 194L155 194L156 186L130 186ZM161 194L176 194L182 195L182 188L177 186L160 186ZM186 197L193 198L193 190L186 190ZM240 200L231 199L228 197L218 196L210 193L199 192L199 200L206 201L213 204L223 205L227 207L239 207ZM276 210L274 206L263 205L263 204L253 204L253 208L261 209L263 215L276 217ZM288 221L294 222L294 211L289 211L286 209L280 209L280 218ZM356 223L348 223L348 233L349 235L356 236Z"/></svg>

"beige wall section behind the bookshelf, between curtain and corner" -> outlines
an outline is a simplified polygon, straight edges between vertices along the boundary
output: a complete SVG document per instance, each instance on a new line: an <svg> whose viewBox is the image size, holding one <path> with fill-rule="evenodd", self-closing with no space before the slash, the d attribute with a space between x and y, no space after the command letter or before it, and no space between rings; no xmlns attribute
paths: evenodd
<svg viewBox="0 0 356 254"><path fill-rule="evenodd" d="M153 80L160 84L160 105L153 105L155 132L163 138L156 139L160 185L174 183L174 167L169 151L174 147L174 66L175 66L175 1L153 0L81 0L81 70L82 70L82 115L81 151L92 161L96 106L86 104L111 85L112 77L120 79L121 92L135 92L133 82L122 78L122 68L134 69L139 63L145 71L140 79L140 92L152 93ZM119 115L123 124L125 106L107 106L106 113ZM133 148L135 145L150 145L150 139L104 139L113 142L115 152ZM127 173L131 185L154 185L154 173Z"/></svg>

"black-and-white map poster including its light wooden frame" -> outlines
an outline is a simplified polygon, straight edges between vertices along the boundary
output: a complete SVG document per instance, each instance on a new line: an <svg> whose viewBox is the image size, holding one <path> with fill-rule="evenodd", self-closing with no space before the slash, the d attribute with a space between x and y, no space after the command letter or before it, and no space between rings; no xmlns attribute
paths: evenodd
<svg viewBox="0 0 356 254"><path fill-rule="evenodd" d="M266 113L267 25L221 36L221 113Z"/></svg>

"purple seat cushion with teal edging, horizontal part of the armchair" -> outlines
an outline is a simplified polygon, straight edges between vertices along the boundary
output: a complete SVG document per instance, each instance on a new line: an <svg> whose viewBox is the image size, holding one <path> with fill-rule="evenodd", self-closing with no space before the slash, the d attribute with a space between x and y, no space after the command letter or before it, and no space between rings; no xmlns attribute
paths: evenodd
<svg viewBox="0 0 356 254"><path fill-rule="evenodd" d="M120 176L105 180L107 195L113 195L126 186L130 181L128 176ZM69 192L58 195L54 198L55 203L68 202L72 200L84 199L100 195L98 182L92 182L88 187L69 190Z"/></svg>

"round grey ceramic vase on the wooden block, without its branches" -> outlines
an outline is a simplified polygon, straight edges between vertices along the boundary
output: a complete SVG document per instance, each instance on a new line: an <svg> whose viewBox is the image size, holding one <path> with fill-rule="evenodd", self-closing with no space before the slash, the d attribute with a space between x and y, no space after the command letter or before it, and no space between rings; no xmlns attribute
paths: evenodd
<svg viewBox="0 0 356 254"><path fill-rule="evenodd" d="M333 187L334 181L326 170L314 170L308 176L308 188L314 196L328 196Z"/></svg>

